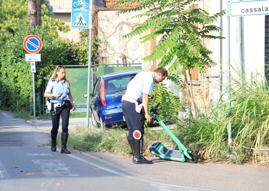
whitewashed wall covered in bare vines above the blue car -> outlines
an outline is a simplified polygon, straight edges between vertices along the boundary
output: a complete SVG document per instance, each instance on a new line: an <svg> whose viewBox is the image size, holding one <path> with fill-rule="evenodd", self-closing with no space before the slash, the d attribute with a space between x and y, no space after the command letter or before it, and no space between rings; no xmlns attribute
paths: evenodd
<svg viewBox="0 0 269 191"><path fill-rule="evenodd" d="M98 12L98 37L104 41L99 48L101 63L143 63L144 46L140 44L139 38L133 36L124 38L133 30L136 23L142 22L144 18L132 18L139 12L117 14L117 11Z"/></svg>

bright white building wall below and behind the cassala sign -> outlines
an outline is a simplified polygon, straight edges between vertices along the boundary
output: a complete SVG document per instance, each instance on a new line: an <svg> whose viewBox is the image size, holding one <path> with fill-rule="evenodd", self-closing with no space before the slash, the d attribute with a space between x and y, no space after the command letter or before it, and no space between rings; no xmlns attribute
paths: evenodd
<svg viewBox="0 0 269 191"><path fill-rule="evenodd" d="M233 1L230 1L233 2ZM222 2L225 9L225 2ZM250 79L254 75L264 75L264 45L265 45L265 15L253 15L241 17L244 19L244 60L245 76ZM226 17L223 18L223 35L226 36ZM238 70L238 53L240 45L237 42L239 17L230 17L230 61L231 65ZM222 44L223 72L226 74L226 40ZM231 69L231 75L237 78L235 70ZM224 76L225 77L225 76ZM261 79L261 77L259 78ZM225 82L225 79L224 79Z"/></svg>

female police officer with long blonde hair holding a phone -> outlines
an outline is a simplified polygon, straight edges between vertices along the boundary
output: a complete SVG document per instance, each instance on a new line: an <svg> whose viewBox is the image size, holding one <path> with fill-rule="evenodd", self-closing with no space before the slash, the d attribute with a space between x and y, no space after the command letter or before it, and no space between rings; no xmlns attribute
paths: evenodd
<svg viewBox="0 0 269 191"><path fill-rule="evenodd" d="M71 94L70 83L66 78L65 67L63 65L58 65L49 82L44 93L44 97L51 98L53 104L51 104L51 150L56 151L56 138L59 129L60 115L62 115L62 150L61 153L70 154L70 151L66 148L66 143L68 139L68 123L70 109L72 109L71 100L74 109L77 110L74 98Z"/></svg>

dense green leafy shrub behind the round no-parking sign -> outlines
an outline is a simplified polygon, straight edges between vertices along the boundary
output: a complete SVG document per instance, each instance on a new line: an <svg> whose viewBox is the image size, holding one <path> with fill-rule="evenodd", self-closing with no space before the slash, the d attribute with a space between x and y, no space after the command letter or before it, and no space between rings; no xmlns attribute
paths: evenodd
<svg viewBox="0 0 269 191"><path fill-rule="evenodd" d="M28 104L33 108L32 73L30 63L25 62L23 40L26 36L35 34L42 40L41 62L36 68L35 87L38 88L42 79L48 80L54 70L54 65L68 63L66 58L66 43L48 31L40 28L21 27L15 36L9 38L0 52L0 83L1 103L3 107L25 110Z"/></svg>

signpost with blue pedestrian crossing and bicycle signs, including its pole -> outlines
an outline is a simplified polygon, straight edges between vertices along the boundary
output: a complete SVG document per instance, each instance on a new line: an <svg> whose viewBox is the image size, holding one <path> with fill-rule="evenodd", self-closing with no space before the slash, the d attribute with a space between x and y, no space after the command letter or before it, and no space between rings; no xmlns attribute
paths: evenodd
<svg viewBox="0 0 269 191"><path fill-rule="evenodd" d="M87 124L89 127L90 113L90 76L92 62L92 4L93 0L72 0L71 28L89 29L89 57L88 57L88 96L87 96Z"/></svg>

